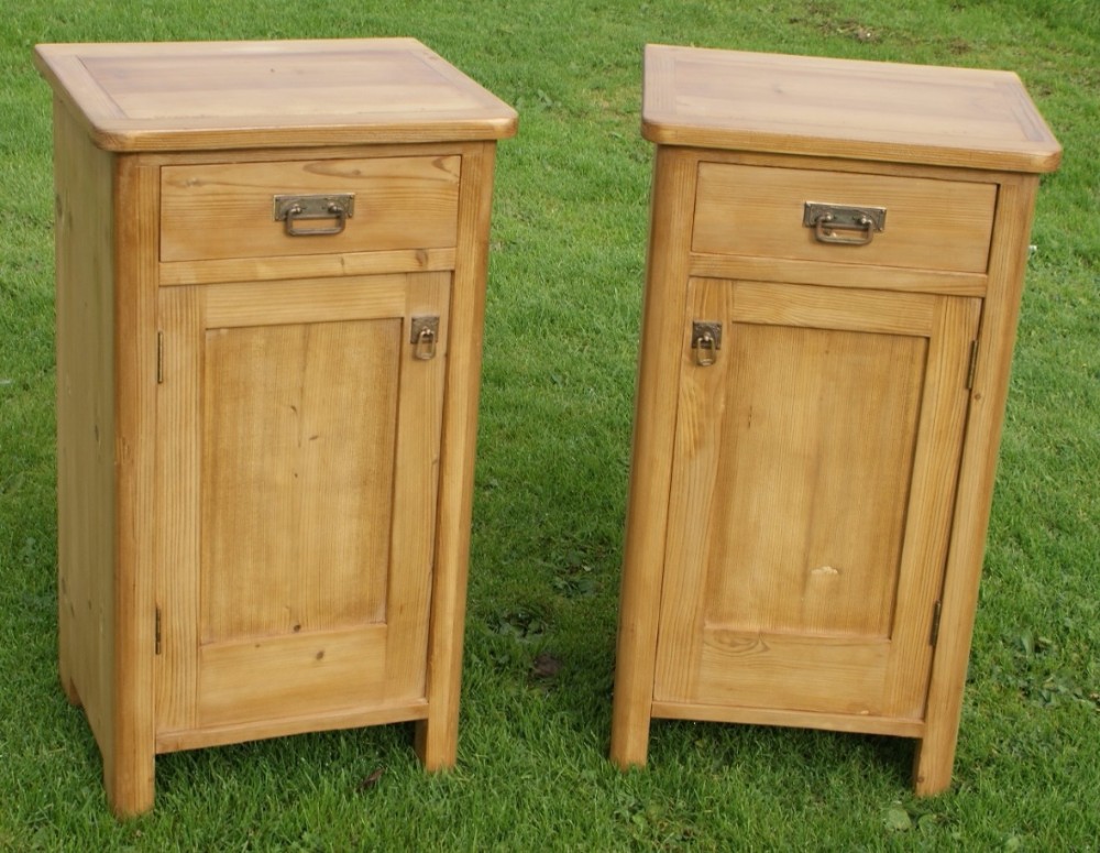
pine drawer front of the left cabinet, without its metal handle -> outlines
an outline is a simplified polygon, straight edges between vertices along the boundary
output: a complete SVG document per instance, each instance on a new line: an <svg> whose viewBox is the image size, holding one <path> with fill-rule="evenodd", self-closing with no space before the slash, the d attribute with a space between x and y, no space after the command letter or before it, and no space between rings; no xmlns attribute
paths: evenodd
<svg viewBox="0 0 1100 853"><path fill-rule="evenodd" d="M461 157L216 163L161 169L161 260L206 261L455 244ZM276 196L353 195L339 220L275 218Z"/></svg>

